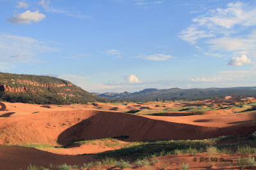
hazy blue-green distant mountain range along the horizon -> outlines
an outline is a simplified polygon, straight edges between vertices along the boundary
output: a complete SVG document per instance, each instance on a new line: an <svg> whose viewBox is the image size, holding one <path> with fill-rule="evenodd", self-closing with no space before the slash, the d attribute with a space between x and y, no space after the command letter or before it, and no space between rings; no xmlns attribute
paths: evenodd
<svg viewBox="0 0 256 170"><path fill-rule="evenodd" d="M140 92L104 93L95 96L122 101L156 101L177 99L208 99L224 96L256 96L256 87L208 88L208 89L144 89Z"/></svg>

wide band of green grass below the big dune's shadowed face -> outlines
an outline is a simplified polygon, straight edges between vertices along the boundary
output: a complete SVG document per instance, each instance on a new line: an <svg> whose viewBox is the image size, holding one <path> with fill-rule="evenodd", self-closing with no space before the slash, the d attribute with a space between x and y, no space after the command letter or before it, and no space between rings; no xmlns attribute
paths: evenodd
<svg viewBox="0 0 256 170"><path fill-rule="evenodd" d="M180 140L180 141L152 141L131 143L119 150L111 150L104 153L97 153L97 157L114 157L130 159L135 161L142 159L145 155L148 157L157 157L162 155L172 155L181 153L202 153L207 152L210 146L216 148L214 152L218 153L256 153L256 143L250 139L252 134L245 136L222 136L219 138L202 140ZM163 150L164 148L164 150ZM211 152L208 150L208 152Z"/></svg>

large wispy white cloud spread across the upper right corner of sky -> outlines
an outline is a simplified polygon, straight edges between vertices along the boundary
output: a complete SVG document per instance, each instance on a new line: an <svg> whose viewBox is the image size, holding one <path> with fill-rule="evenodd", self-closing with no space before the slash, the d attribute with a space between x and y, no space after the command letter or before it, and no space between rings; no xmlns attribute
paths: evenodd
<svg viewBox="0 0 256 170"><path fill-rule="evenodd" d="M196 39L212 36L228 36L240 31L235 26L256 25L256 8L241 2L228 3L227 8L209 10L205 15L193 18L193 24L180 32L179 37L195 43Z"/></svg>

